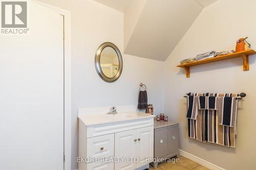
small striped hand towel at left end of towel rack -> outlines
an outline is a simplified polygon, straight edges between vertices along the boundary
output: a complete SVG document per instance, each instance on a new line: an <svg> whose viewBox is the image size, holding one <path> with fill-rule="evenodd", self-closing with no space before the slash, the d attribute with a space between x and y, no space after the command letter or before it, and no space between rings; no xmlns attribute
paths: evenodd
<svg viewBox="0 0 256 170"><path fill-rule="evenodd" d="M196 119L198 115L199 96L187 96L187 118Z"/></svg>

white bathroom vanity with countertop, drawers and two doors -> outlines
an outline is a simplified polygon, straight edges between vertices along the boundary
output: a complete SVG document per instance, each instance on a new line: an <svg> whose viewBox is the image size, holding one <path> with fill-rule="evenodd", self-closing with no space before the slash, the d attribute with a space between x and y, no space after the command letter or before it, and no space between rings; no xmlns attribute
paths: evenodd
<svg viewBox="0 0 256 170"><path fill-rule="evenodd" d="M116 117L122 120L104 123L79 116L78 170L133 170L150 163L146 158L154 157L154 116L136 112L125 119L121 114Z"/></svg>

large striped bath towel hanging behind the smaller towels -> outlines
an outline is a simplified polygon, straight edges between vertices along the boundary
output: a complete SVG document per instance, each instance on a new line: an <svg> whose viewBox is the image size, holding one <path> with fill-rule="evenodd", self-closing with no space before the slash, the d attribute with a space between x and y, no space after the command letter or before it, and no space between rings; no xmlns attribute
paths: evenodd
<svg viewBox="0 0 256 170"><path fill-rule="evenodd" d="M188 93L196 96L231 96L231 93ZM200 97L199 97L200 98ZM219 103L219 102L218 102ZM196 119L188 118L188 136L202 142L211 142L226 147L236 147L236 122L233 127L219 124L219 110L198 110Z"/></svg>

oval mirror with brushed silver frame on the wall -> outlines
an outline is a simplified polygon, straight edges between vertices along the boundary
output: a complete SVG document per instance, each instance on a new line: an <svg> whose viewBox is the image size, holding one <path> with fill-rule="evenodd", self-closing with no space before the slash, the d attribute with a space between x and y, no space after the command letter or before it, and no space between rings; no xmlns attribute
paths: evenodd
<svg viewBox="0 0 256 170"><path fill-rule="evenodd" d="M95 54L95 67L101 79L106 82L114 82L120 77L123 60L115 44L104 42L98 47Z"/></svg>

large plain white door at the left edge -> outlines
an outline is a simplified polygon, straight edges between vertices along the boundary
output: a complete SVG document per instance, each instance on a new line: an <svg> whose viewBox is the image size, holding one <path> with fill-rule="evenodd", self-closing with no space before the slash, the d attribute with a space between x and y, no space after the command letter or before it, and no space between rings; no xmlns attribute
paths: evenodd
<svg viewBox="0 0 256 170"><path fill-rule="evenodd" d="M29 35L0 36L0 169L63 169L63 16L29 3Z"/></svg>

